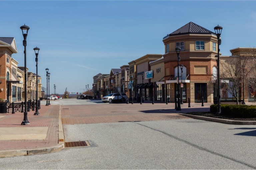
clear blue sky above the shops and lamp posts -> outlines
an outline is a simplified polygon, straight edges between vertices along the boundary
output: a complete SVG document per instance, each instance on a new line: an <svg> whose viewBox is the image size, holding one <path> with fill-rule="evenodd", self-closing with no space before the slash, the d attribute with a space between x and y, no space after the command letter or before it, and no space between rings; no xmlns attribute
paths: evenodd
<svg viewBox="0 0 256 170"><path fill-rule="evenodd" d="M93 76L109 74L145 54L163 54L163 37L189 22L223 27L220 52L256 46L256 1L0 1L0 37L14 37L12 57L24 66L20 26L30 27L27 67L50 93L83 92Z"/></svg>

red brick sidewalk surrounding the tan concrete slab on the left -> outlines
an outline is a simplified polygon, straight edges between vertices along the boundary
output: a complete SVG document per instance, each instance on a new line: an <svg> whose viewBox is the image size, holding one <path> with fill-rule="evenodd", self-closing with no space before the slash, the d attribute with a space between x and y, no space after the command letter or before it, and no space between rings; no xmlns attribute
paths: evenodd
<svg viewBox="0 0 256 170"><path fill-rule="evenodd" d="M15 114L0 114L1 127L49 127L46 140L1 140L0 151L17 149L37 149L51 147L58 144L58 117L59 105L44 106L41 105L40 115L35 116L35 111L28 112L28 121L30 125L21 125L24 115L16 112Z"/></svg>

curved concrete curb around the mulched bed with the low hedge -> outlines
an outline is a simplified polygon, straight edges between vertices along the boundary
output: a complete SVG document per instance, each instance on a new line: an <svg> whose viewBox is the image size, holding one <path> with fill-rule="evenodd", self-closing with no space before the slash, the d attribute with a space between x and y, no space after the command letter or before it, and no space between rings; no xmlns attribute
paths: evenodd
<svg viewBox="0 0 256 170"><path fill-rule="evenodd" d="M177 113L177 114L183 115L183 116L186 116L186 117L189 117L189 118L193 118L193 119L217 122L217 123L222 123L222 124L256 125L256 121L233 121L233 120L227 120L227 119L218 119L218 118L210 118L210 117L204 117L204 116L188 115L188 114L183 114L183 113Z"/></svg>

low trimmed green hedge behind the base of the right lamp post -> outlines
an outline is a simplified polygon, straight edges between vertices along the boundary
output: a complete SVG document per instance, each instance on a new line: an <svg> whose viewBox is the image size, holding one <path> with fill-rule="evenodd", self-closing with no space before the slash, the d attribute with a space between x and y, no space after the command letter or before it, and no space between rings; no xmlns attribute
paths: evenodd
<svg viewBox="0 0 256 170"><path fill-rule="evenodd" d="M211 105L210 112L216 113L218 105ZM256 118L256 106L221 105L221 113L236 118Z"/></svg>

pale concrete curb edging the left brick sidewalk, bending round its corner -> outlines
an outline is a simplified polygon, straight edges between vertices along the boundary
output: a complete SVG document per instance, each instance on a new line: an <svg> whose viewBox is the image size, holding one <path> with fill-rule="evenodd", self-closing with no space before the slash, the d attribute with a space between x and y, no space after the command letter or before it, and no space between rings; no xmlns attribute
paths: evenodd
<svg viewBox="0 0 256 170"><path fill-rule="evenodd" d="M59 105L59 121L58 121L58 132L59 132L59 140L58 144L52 147L39 148L39 149L19 149L19 150L5 150L0 151L0 157L9 157L9 156L21 156L21 155L34 155L34 154L43 154L43 153L52 153L57 152L65 148L64 145L64 133L62 126L62 118L61 118L61 105Z"/></svg>

